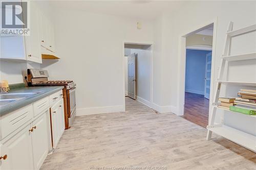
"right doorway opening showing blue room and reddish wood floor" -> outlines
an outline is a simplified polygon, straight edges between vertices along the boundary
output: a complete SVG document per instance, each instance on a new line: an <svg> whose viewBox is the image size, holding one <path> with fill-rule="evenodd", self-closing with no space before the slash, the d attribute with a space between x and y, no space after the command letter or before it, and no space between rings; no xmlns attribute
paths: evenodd
<svg viewBox="0 0 256 170"><path fill-rule="evenodd" d="M184 100L180 108L185 119L204 128L208 125L212 96L215 33L212 22L182 37L184 89L180 91Z"/></svg>

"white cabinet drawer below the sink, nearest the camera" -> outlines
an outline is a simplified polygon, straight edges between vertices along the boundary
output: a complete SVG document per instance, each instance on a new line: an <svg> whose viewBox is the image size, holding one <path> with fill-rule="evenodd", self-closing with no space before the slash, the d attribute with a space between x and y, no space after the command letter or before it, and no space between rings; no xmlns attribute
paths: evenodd
<svg viewBox="0 0 256 170"><path fill-rule="evenodd" d="M33 118L33 106L28 105L11 112L1 119L1 139L8 136L11 132L26 124Z"/></svg>

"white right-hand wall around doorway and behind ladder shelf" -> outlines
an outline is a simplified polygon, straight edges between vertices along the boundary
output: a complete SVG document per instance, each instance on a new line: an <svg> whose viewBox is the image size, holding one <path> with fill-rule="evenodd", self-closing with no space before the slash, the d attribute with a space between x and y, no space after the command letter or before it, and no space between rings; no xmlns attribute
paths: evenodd
<svg viewBox="0 0 256 170"><path fill-rule="evenodd" d="M239 11L239 12L238 12ZM207 13L207 15L205 15ZM170 108L170 111L177 111L178 101L177 98L180 95L178 92L179 86L179 40L180 36L193 31L193 28L197 29L199 25L203 23L214 20L218 17L217 23L217 39L216 39L216 65L214 67L214 72L212 76L214 79L217 79L218 68L220 66L220 59L224 48L224 40L227 31L227 26L229 21L234 22L233 29L239 29L242 27L246 27L249 25L253 25L256 23L256 2L246 2L246 1L233 1L233 2L188 2L186 6L181 8L174 14L164 14L160 19L158 19L155 24L158 24L159 21L161 25L155 29L155 34L159 35L158 40L154 40L156 42L156 47L160 48L162 46L162 51L159 53L155 53L154 63L159 62L154 70L160 70L161 76L160 78L164 81L161 86L158 86L156 91L160 91L160 94L164 94L158 99L161 106L166 106ZM233 50L236 50L236 53L243 53L245 51L255 51L255 36L252 36L245 40L241 38L240 45L236 44L236 42L232 42ZM252 42L249 45L249 42ZM246 44L246 45L244 45ZM247 49L246 49L247 48ZM248 48L253 48L248 50ZM155 62L155 60L158 60ZM245 65L245 62L241 62L240 64L231 64L232 70L236 70L237 75L232 77L229 74L229 80L236 79L237 81L249 81L256 82L256 69L255 61L246 61L249 66ZM249 70L250 74L246 72L243 73L244 70ZM240 71L239 71L240 70ZM243 70L243 71L242 71ZM156 73L154 72L154 77ZM155 81L155 80L154 80ZM156 82L155 82L156 83ZM214 91L216 89L216 83L214 84ZM232 95L235 95L235 91L237 89L232 90ZM225 95L225 91L222 91L222 95ZM226 94L228 95L228 94ZM211 96L212 97L212 96ZM168 107L170 106L170 107ZM176 113L177 113L176 112ZM220 114L217 114L220 115ZM228 113L226 114L228 115ZM230 114L229 114L230 115ZM231 116L233 116L232 114ZM242 115L243 116L243 115ZM217 119L220 118L217 117ZM239 120L240 123L236 123L233 121L234 119ZM241 119L241 115L238 114L238 117L234 117L226 119L227 124L232 124L230 126L237 127L238 129L243 129L244 131L250 132L252 134L256 134L256 124L255 120L250 119L246 116L243 116ZM230 123L230 122L234 123Z"/></svg>

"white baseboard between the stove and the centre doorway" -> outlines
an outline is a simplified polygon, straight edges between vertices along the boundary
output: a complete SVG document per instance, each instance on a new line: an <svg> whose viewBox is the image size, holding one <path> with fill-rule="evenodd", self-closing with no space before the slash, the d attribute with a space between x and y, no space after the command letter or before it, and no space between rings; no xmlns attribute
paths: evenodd
<svg viewBox="0 0 256 170"><path fill-rule="evenodd" d="M102 114L102 113L115 113L115 112L124 112L125 106L105 106L105 107L89 107L89 108L80 108L76 109L77 116L91 115L91 114Z"/></svg>

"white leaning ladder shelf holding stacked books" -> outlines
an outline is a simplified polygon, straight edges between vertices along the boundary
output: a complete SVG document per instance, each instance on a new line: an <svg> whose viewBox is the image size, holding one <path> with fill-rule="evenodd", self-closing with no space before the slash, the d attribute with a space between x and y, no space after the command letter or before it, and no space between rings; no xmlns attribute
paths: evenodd
<svg viewBox="0 0 256 170"><path fill-rule="evenodd" d="M215 117L216 117L216 111L217 109L222 109L217 106L217 103L219 101L219 95L221 90L221 85L231 85L231 86L245 86L245 87L256 87L256 83L254 82L232 82L232 81L223 81L223 74L224 69L226 65L226 61L241 61L241 60L251 60L256 59L256 52L254 53L248 53L248 54L239 54L239 55L232 55L229 56L229 48L230 48L230 41L231 37L243 35L248 32L252 32L256 30L256 25L248 26L239 30L232 31L233 28L233 22L229 23L227 34L226 34L226 42L225 42L225 48L223 55L221 57L221 68L219 71L218 79L217 79L217 90L215 92L215 98L214 103L212 104L214 107L212 108L211 114L210 114L210 120L209 125L207 126L207 140L211 139L212 132L223 136L224 138L231 140L237 144L242 145L243 147L253 151L256 153L256 136L248 134L246 132L228 127L226 125L216 125ZM223 109L227 110L227 109ZM229 110L230 111L230 110ZM239 114L239 113L238 113ZM251 118L255 118L256 115L245 115L250 116Z"/></svg>

